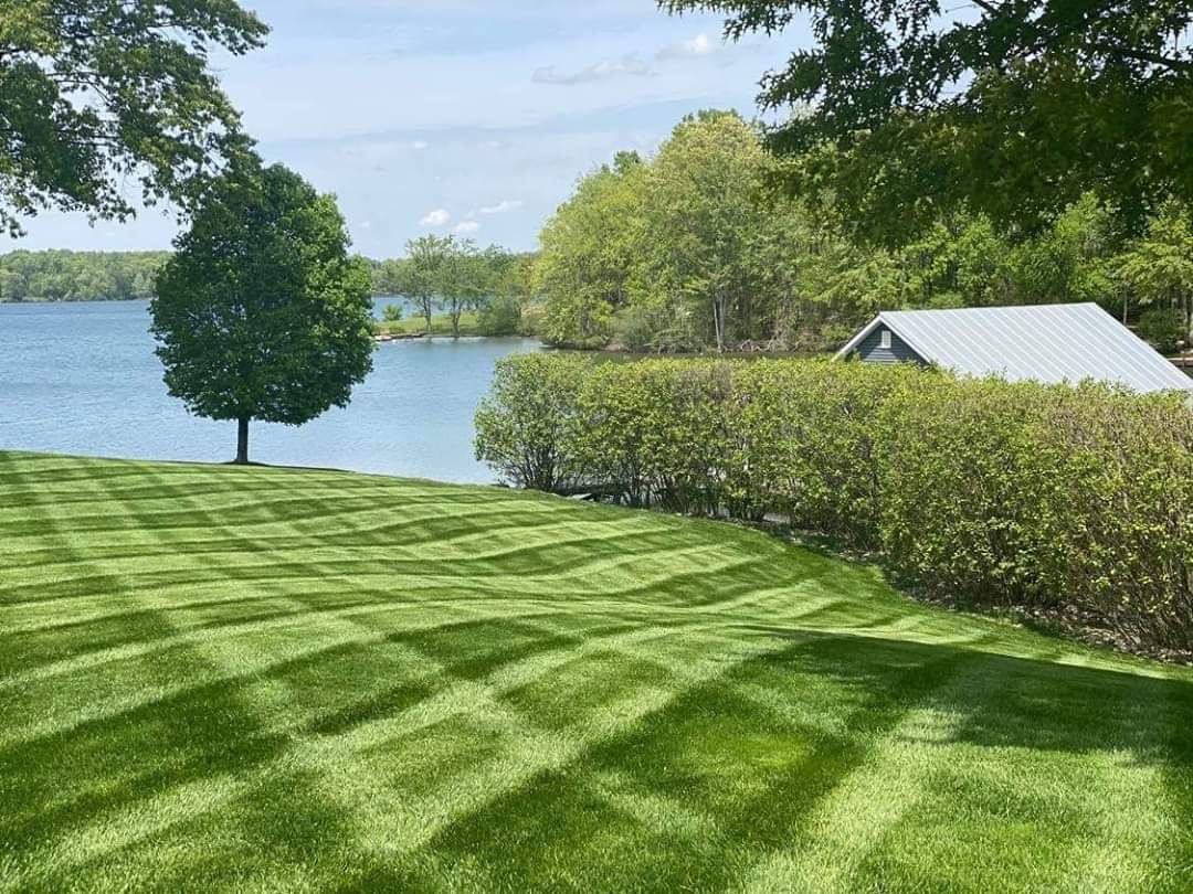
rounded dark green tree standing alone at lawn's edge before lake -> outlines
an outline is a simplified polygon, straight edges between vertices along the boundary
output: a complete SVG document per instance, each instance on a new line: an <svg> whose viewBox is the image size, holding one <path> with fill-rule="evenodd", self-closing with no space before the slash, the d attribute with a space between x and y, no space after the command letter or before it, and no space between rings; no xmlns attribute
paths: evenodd
<svg viewBox="0 0 1193 894"><path fill-rule="evenodd" d="M345 406L372 368L371 281L344 218L280 164L218 180L152 304L166 386L199 416L301 426Z"/></svg>

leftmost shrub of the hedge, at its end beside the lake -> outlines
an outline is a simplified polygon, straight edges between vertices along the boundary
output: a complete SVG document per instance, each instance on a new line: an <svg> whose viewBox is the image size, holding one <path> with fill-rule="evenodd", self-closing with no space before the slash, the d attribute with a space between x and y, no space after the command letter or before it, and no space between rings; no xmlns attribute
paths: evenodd
<svg viewBox="0 0 1193 894"><path fill-rule="evenodd" d="M520 488L567 490L582 480L569 432L591 364L570 354L499 360L493 392L476 411L476 458Z"/></svg>

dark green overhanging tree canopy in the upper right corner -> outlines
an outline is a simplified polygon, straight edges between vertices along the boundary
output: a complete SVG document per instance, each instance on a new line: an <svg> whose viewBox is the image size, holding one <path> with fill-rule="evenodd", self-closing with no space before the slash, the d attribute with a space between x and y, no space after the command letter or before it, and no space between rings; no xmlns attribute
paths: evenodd
<svg viewBox="0 0 1193 894"><path fill-rule="evenodd" d="M660 0L725 35L810 24L762 80L789 182L855 235L898 244L965 207L1039 232L1084 193L1143 222L1193 199L1187 0Z"/></svg>

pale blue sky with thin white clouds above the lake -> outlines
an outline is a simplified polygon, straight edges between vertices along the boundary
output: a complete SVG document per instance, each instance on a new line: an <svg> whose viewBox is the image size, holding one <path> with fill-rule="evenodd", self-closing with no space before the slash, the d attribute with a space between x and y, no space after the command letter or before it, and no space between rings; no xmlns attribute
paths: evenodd
<svg viewBox="0 0 1193 894"><path fill-rule="evenodd" d="M755 114L759 76L798 39L725 45L719 18L667 17L653 0L245 5L273 31L266 49L216 60L224 88L262 155L335 193L375 257L422 232L533 248L576 178L614 151L653 151L698 108ZM146 211L26 229L20 247L131 249L167 247L175 225Z"/></svg>

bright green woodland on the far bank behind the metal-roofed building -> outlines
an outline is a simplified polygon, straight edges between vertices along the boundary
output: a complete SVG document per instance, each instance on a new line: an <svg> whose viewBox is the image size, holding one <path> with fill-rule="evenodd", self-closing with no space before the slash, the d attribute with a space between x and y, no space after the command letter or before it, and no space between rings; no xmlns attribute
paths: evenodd
<svg viewBox="0 0 1193 894"><path fill-rule="evenodd" d="M879 310L1098 302L1163 349L1193 317L1193 226L1176 204L1129 234L1087 197L1032 238L941 217L861 247L830 203L772 188L781 164L735 113L686 118L650 159L622 154L546 223L534 286L556 344L818 350Z"/></svg>

